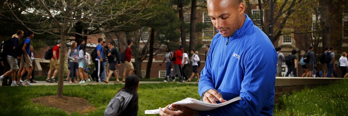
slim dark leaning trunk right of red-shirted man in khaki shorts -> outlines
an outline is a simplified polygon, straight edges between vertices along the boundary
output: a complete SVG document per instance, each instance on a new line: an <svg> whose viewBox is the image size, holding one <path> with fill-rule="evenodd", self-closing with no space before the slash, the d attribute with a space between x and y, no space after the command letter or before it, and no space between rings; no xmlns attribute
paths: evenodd
<svg viewBox="0 0 348 116"><path fill-rule="evenodd" d="M150 45L149 45L149 61L148 61L148 65L146 66L146 75L145 75L145 78L148 78L148 79L150 78L150 72L151 72L154 39L155 39L155 29L151 28Z"/></svg>

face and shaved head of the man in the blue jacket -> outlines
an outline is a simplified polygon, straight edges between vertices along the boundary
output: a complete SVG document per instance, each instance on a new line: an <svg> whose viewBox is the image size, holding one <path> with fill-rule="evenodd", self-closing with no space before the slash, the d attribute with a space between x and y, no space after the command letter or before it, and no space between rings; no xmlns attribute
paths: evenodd
<svg viewBox="0 0 348 116"><path fill-rule="evenodd" d="M208 15L213 25L221 33L222 37L232 36L240 28L244 14L244 5L232 3L232 0L208 0ZM244 16L244 15L243 15Z"/></svg>

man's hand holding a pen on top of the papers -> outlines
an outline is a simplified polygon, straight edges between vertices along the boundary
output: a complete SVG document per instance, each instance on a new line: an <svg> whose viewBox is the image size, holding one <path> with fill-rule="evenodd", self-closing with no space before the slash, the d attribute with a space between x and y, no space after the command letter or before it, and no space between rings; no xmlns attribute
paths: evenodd
<svg viewBox="0 0 348 116"><path fill-rule="evenodd" d="M215 97L216 99L212 101ZM214 89L205 92L203 96L203 101L207 103L216 103L215 101L220 101L221 103L226 102L226 100L222 98L222 95Z"/></svg>

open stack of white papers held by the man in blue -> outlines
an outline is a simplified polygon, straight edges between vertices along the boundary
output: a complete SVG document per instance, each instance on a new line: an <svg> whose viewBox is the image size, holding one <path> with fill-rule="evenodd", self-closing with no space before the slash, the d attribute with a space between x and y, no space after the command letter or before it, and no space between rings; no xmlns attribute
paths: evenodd
<svg viewBox="0 0 348 116"><path fill-rule="evenodd" d="M174 103L177 105L180 105L180 106L185 106L185 107L191 108L192 110L196 110L196 111L208 111L208 110L212 110L215 108L219 108L221 106L228 105L229 103L232 103L232 102L235 102L235 101L238 101L241 99L242 98L240 98L238 96L238 97L231 99L227 102L214 104L214 103L203 102L203 101L196 100L193 98L186 98L186 99L174 102ZM159 109L145 110L145 114L159 114Z"/></svg>

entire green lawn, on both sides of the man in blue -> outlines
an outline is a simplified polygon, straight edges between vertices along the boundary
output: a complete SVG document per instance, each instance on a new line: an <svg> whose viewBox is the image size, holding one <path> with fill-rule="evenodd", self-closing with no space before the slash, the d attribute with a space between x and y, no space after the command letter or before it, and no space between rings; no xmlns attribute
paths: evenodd
<svg viewBox="0 0 348 116"><path fill-rule="evenodd" d="M87 99L96 111L88 116L103 115L106 105L122 84L109 85L66 85L64 95ZM55 95L57 86L3 86L0 87L0 116L63 116L65 111L34 104L31 98ZM139 116L145 115L144 110L157 109L185 99L187 97L200 99L197 93L198 84L159 83L140 84ZM275 116L325 116L348 115L348 80L333 85L304 89L279 97L275 104ZM71 116L80 116L73 113Z"/></svg>

